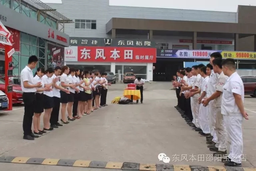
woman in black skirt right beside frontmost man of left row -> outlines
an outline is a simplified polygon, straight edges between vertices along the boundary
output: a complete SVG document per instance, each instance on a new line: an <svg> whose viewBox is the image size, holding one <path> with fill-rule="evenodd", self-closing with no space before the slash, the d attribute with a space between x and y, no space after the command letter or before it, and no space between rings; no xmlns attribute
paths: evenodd
<svg viewBox="0 0 256 171"><path fill-rule="evenodd" d="M42 81L42 76L44 76L44 68L39 67L34 75L34 83L41 82L42 87L37 88L36 91L36 101L34 104L34 117L33 117L33 127L34 127L34 134L42 135L46 133L46 131L40 129L40 117L41 114L44 112L44 83Z"/></svg>

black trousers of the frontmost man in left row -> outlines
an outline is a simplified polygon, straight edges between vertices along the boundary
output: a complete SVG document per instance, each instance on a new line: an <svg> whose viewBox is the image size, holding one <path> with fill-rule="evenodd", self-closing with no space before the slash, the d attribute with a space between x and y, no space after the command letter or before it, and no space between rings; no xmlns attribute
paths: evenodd
<svg viewBox="0 0 256 171"><path fill-rule="evenodd" d="M24 135L30 135L32 133L32 121L34 115L34 104L36 101L36 94L24 92L22 95L24 102L24 117L23 117L23 132Z"/></svg>

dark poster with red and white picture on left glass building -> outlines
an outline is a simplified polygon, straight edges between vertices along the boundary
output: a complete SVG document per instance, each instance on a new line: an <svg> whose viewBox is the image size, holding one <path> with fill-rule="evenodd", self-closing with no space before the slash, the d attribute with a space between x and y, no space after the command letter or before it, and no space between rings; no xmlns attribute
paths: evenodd
<svg viewBox="0 0 256 171"><path fill-rule="evenodd" d="M64 48L54 44L47 44L46 54L47 68L55 68L56 66L64 66Z"/></svg>

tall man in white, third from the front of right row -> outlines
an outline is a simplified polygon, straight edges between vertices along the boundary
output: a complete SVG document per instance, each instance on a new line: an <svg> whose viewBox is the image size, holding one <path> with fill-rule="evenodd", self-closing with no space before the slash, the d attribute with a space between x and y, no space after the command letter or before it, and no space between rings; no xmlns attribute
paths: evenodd
<svg viewBox="0 0 256 171"><path fill-rule="evenodd" d="M222 59L222 55L219 52L214 52L210 55L210 64L212 64L212 61L216 58ZM210 75L208 84L207 84L207 92L206 97L210 97L214 92L216 92L216 84L218 80L218 73L214 73L212 70L212 74ZM216 125L216 109L213 106L213 101L209 102L209 127L210 127L210 134L211 136L206 137L206 144L212 145L218 141L216 131L215 131L215 125Z"/></svg>

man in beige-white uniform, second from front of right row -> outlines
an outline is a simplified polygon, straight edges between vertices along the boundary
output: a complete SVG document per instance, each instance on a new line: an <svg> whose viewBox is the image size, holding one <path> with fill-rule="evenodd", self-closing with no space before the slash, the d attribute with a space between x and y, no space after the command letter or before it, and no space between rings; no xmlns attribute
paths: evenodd
<svg viewBox="0 0 256 171"><path fill-rule="evenodd" d="M228 76L225 76L222 72L222 59L217 58L212 61L213 64L213 70L214 73L218 73L218 80L216 84L216 91L208 98L204 100L204 106L207 106L208 103L212 100L213 102L213 107L215 107L216 111L216 125L215 125L215 130L216 130L216 135L217 135L217 142L216 144L213 143L211 145L208 145L210 151L216 151L214 153L214 156L218 155L226 155L226 150L227 150L227 132L226 132L226 127L224 124L223 120L223 115L221 113L221 99L222 99L222 91L224 84L226 83L226 80L228 79Z"/></svg>

